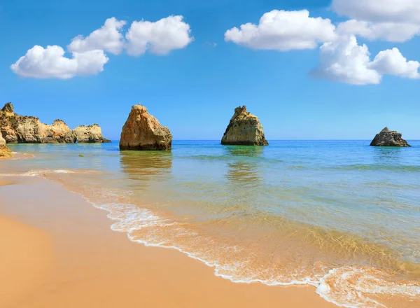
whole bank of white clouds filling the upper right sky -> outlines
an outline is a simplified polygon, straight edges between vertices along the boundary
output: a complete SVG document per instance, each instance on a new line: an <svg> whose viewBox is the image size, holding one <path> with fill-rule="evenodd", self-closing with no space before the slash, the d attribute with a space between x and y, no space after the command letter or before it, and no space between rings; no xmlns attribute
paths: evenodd
<svg viewBox="0 0 420 308"><path fill-rule="evenodd" d="M225 41L281 52L322 44L318 66L310 71L314 78L353 85L377 85L384 75L420 78L420 63L407 61L398 48L383 50L372 61L367 45L358 45L356 38L403 43L420 35L420 0L333 0L331 8L353 19L336 27L329 19L309 17L308 10L272 10L259 25L229 29Z"/></svg>

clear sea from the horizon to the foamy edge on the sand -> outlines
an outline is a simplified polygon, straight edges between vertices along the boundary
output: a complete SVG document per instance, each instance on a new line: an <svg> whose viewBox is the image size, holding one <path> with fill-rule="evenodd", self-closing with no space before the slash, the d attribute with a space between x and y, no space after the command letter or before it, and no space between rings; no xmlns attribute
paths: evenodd
<svg viewBox="0 0 420 308"><path fill-rule="evenodd" d="M116 221L236 282L309 283L342 307L420 307L420 141L10 145L0 174L61 181ZM78 157L83 154L84 157Z"/></svg>

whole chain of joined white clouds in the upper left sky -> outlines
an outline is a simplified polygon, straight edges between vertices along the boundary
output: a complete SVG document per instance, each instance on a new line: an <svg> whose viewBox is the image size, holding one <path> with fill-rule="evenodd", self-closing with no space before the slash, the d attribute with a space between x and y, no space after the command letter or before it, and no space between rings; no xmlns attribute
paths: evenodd
<svg viewBox="0 0 420 308"><path fill-rule="evenodd" d="M69 79L104 71L104 65L109 61L106 52L120 55L127 50L128 55L139 56L149 51L154 55L168 55L193 41L190 25L183 22L181 15L171 15L157 22L134 21L124 37L126 24L125 20L108 18L101 28L88 36L76 36L67 46L71 58L65 56L64 48L59 45L46 48L34 45L10 65L10 69L25 78Z"/></svg>

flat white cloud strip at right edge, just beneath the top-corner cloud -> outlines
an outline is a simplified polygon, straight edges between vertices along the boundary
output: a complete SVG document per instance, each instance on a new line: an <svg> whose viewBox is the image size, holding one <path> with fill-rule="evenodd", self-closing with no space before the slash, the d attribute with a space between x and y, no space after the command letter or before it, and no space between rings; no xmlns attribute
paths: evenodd
<svg viewBox="0 0 420 308"><path fill-rule="evenodd" d="M390 42L405 42L420 34L420 23L398 22L365 22L348 20L337 27L337 33L344 35L357 35L371 41L384 40Z"/></svg>

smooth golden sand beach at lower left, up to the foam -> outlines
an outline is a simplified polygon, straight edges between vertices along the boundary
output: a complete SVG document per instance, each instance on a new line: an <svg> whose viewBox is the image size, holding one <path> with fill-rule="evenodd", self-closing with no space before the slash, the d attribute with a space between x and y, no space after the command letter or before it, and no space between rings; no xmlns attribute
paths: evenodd
<svg viewBox="0 0 420 308"><path fill-rule="evenodd" d="M59 183L0 177L0 307L328 308L311 286L242 284L135 244Z"/></svg>

